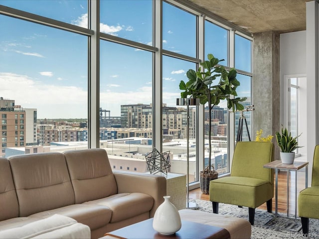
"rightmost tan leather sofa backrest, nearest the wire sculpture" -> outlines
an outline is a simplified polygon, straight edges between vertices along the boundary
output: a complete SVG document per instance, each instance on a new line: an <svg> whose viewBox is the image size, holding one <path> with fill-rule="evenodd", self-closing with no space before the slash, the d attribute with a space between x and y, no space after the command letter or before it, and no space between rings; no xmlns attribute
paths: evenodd
<svg viewBox="0 0 319 239"><path fill-rule="evenodd" d="M117 193L117 184L104 149L64 152L72 181L75 203L104 198Z"/></svg>

